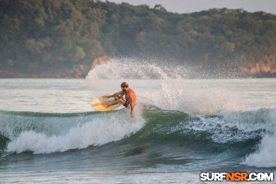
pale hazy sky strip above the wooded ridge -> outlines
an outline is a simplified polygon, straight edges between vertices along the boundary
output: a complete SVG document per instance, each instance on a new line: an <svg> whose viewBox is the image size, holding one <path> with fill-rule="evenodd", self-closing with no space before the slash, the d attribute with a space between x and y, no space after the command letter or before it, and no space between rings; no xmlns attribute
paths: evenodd
<svg viewBox="0 0 276 184"><path fill-rule="evenodd" d="M103 0L104 1L104 0ZM153 8L161 4L168 12L191 13L210 8L243 8L248 12L264 11L276 14L276 0L109 0L120 4L127 2L132 5L147 4Z"/></svg>

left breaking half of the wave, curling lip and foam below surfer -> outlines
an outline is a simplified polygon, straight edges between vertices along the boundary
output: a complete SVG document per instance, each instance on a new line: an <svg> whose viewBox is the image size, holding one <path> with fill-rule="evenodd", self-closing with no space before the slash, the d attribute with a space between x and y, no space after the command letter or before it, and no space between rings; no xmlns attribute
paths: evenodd
<svg viewBox="0 0 276 184"><path fill-rule="evenodd" d="M7 152L35 154L63 152L120 140L139 130L144 121L131 123L125 111L113 113L39 113L1 111L1 134L11 140Z"/></svg>

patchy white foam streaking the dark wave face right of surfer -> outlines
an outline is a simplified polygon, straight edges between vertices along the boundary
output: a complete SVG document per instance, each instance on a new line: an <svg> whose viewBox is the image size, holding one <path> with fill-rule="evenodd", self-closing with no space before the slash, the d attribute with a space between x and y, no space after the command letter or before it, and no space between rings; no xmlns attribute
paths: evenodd
<svg viewBox="0 0 276 184"><path fill-rule="evenodd" d="M273 111L263 108L246 112L223 112L211 117L190 114L196 120L183 126L190 130L208 132L210 138L217 143L233 143L273 135L275 123L267 118Z"/></svg>

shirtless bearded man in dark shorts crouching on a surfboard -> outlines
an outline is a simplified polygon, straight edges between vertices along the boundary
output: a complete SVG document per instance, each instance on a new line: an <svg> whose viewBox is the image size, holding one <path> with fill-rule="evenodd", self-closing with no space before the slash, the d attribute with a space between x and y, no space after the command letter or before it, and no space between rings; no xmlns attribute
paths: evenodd
<svg viewBox="0 0 276 184"><path fill-rule="evenodd" d="M119 96L119 98L111 103L111 104L102 104L103 107L110 107L110 106L113 106L113 105L116 105L116 104L123 104L123 106L125 106L126 108L129 108L131 107L131 111L130 111L130 116L131 118L133 118L133 108L134 108L134 105L135 105L135 102L136 102L136 94L134 93L134 91L132 89L130 89L128 87L128 83L126 82L123 82L121 84L121 89L122 91L118 92L118 93L115 93L111 96L103 96L105 97L106 99L108 98L111 98L111 97L117 97ZM123 95L126 97L126 100L124 100L122 97Z"/></svg>

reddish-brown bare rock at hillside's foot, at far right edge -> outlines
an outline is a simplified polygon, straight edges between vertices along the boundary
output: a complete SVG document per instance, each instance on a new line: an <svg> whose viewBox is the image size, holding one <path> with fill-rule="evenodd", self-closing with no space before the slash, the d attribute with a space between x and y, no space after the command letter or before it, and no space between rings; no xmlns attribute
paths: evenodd
<svg viewBox="0 0 276 184"><path fill-rule="evenodd" d="M251 74L276 73L276 53L266 56L265 60L258 61L251 66L243 67L243 72Z"/></svg>

